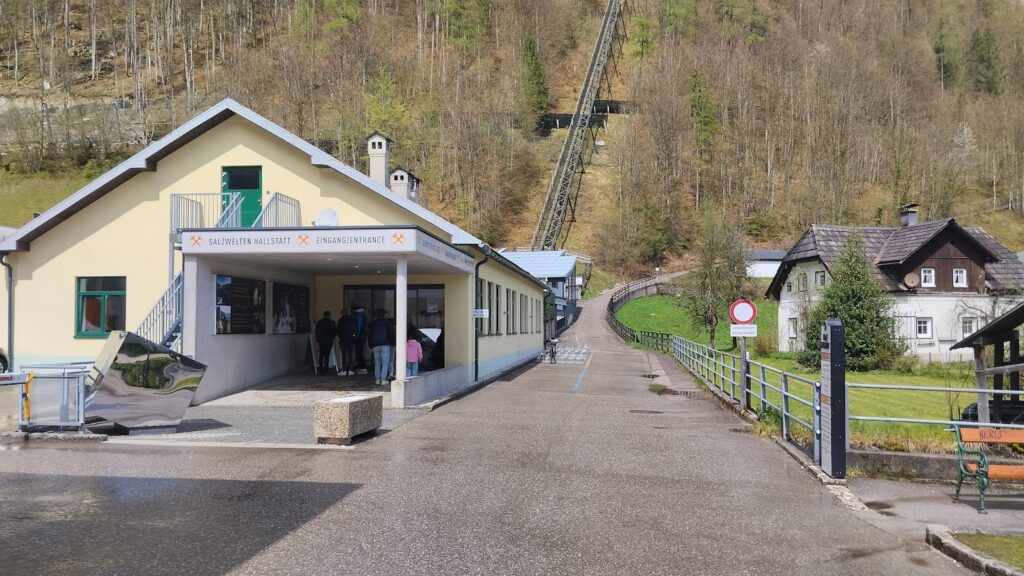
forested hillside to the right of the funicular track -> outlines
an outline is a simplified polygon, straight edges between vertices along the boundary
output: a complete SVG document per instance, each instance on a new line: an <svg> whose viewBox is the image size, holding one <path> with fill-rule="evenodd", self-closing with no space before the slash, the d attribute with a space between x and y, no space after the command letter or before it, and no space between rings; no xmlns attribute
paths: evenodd
<svg viewBox="0 0 1024 576"><path fill-rule="evenodd" d="M918 202L1024 249L1024 8L1009 0L636 0L601 253L685 246L697 210L788 246ZM1016 212L1012 214L1010 208ZM632 248L629 253L623 247Z"/></svg>

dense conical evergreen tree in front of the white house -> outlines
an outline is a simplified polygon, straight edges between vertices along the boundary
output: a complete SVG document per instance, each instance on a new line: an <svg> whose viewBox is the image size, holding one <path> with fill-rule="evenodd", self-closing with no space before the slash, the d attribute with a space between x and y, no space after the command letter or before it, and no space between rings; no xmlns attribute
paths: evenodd
<svg viewBox="0 0 1024 576"><path fill-rule="evenodd" d="M903 344L896 337L893 299L879 285L870 266L863 240L857 234L850 236L829 270L831 281L808 317L801 363L817 364L821 326L829 318L842 320L846 327L846 362L850 370L888 368L902 354Z"/></svg>

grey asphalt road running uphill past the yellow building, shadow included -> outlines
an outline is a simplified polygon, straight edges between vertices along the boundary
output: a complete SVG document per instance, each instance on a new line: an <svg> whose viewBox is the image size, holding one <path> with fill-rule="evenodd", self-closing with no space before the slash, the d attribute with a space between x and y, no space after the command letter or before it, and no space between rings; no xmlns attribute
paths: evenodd
<svg viewBox="0 0 1024 576"><path fill-rule="evenodd" d="M562 338L588 364L534 365L351 450L2 451L2 572L970 574L622 344L604 302Z"/></svg>

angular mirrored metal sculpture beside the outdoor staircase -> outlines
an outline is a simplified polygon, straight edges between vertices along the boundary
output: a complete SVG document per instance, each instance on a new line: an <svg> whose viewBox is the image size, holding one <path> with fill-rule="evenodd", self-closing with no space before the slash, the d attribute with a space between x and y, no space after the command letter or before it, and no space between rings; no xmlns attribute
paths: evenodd
<svg viewBox="0 0 1024 576"><path fill-rule="evenodd" d="M90 428L177 427L206 365L132 332L112 332L86 382Z"/></svg>

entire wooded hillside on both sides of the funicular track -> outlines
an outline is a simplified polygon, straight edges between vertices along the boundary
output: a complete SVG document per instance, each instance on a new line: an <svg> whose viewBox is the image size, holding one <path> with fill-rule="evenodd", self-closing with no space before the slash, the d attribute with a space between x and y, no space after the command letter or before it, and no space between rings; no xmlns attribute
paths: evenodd
<svg viewBox="0 0 1024 576"><path fill-rule="evenodd" d="M0 0L0 202L23 206L0 224L73 192L32 182L74 188L230 95L360 169L386 133L431 209L522 244L564 136L538 122L571 110L605 4ZM787 247L907 202L1024 250L1020 2L630 0L624 17L602 97L632 113L597 134L569 238L599 263L683 253L708 211Z"/></svg>

